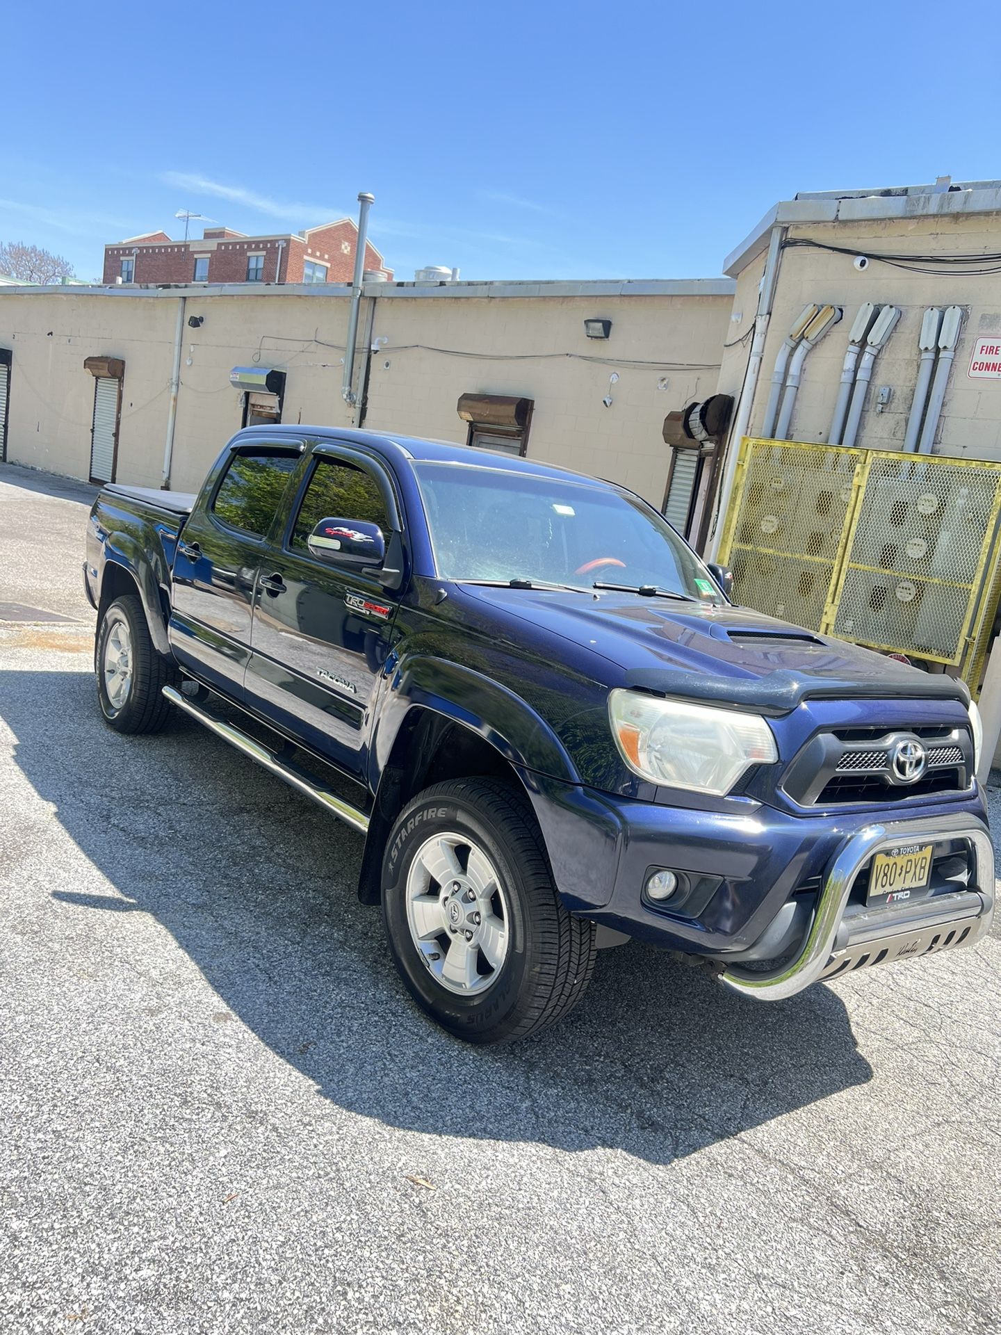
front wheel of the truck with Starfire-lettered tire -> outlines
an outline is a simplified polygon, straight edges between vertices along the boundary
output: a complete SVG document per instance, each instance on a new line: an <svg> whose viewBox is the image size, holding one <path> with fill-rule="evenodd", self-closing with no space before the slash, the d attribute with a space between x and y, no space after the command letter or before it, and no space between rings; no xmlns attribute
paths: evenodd
<svg viewBox="0 0 1001 1335"><path fill-rule="evenodd" d="M491 778L436 784L404 808L383 858L383 917L410 995L467 1043L555 1024L594 971L594 924L559 902L531 812Z"/></svg>

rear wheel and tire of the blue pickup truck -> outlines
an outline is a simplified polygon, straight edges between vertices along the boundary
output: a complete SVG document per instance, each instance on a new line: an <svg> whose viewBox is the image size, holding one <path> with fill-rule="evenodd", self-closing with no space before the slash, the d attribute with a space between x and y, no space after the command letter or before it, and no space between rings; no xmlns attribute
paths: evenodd
<svg viewBox="0 0 1001 1335"><path fill-rule="evenodd" d="M153 649L139 594L109 602L97 626L93 665L97 701L108 728L117 733L159 733L171 717L163 688L174 666Z"/></svg>

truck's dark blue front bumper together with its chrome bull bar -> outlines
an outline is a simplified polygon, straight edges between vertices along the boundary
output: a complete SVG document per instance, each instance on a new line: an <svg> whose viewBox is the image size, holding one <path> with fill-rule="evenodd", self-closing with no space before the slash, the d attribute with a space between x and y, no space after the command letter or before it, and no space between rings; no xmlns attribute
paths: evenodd
<svg viewBox="0 0 1001 1335"><path fill-rule="evenodd" d="M994 909L994 857L977 789L884 813L746 814L613 797L526 776L561 898L595 922L710 963L725 987L781 1000L821 977L978 940ZM886 817L890 816L888 810ZM868 908L853 888L894 844L964 844L966 884L910 908ZM643 898L647 873L681 869L705 894ZM803 893L807 890L807 893ZM783 963L770 968L767 961ZM763 963L758 963L763 961Z"/></svg>

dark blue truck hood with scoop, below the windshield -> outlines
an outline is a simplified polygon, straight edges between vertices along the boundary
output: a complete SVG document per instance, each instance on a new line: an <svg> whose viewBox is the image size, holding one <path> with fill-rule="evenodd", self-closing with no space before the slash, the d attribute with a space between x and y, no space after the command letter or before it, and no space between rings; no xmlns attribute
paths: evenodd
<svg viewBox="0 0 1001 1335"><path fill-rule="evenodd" d="M785 712L807 696L969 702L965 685L747 607L639 594L463 591L621 669L622 685ZM611 682L609 682L611 684Z"/></svg>

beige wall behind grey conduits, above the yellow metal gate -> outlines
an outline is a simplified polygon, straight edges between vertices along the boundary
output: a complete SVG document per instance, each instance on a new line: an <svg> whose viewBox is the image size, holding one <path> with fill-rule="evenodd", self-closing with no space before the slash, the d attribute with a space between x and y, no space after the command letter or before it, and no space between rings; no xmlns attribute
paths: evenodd
<svg viewBox="0 0 1001 1335"><path fill-rule="evenodd" d="M852 251L857 247L860 251L900 254L997 251L1001 248L1000 234L998 215L815 223L789 230L790 239L809 238L848 247ZM734 308L743 307L745 320L751 314L749 298L742 291L745 276L753 274L757 286L761 263L762 260L757 259L738 280ZM827 439L852 322L864 302L874 302L901 307L902 316L876 360L872 388L856 443L878 450L900 449L914 391L918 367L917 339L922 314L929 306L962 306L966 308L966 315L942 409L937 453L1001 459L1001 380L972 380L966 375L976 338L984 334L1001 334L1001 274L964 276L950 270L945 275L926 275L905 272L878 262L870 263L868 270L860 272L853 266L852 255L834 255L807 247L785 248L761 379L754 398L751 434L759 433L762 427L771 371L782 339L791 320L809 302L818 304L833 302L844 306L845 315L806 359L790 431L791 439ZM741 328L746 328L746 323ZM892 387L893 398L884 413L876 413L876 387L882 384Z"/></svg>

